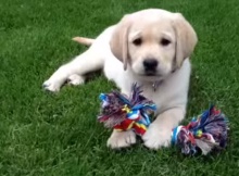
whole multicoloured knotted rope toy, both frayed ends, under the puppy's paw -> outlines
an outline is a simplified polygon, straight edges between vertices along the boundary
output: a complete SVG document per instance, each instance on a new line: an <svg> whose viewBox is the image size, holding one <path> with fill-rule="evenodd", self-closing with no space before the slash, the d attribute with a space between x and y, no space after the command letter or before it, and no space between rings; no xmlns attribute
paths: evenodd
<svg viewBox="0 0 239 176"><path fill-rule="evenodd" d="M116 130L133 129L142 136L150 125L150 116L156 105L141 95L137 84L131 87L127 98L118 91L101 93L101 114L98 121L108 128ZM212 105L201 115L193 117L187 126L172 130L172 144L177 144L184 154L196 154L199 150L207 154L213 149L224 149L227 142L228 120Z"/></svg>

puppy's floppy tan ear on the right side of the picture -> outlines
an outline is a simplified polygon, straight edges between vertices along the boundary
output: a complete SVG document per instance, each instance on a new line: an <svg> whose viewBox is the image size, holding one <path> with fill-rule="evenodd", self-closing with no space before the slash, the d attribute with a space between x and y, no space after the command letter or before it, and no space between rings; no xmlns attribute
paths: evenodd
<svg viewBox="0 0 239 176"><path fill-rule="evenodd" d="M198 42L198 37L192 26L185 20L180 13L175 14L173 21L176 34L176 68L180 67L184 60L189 58Z"/></svg>

